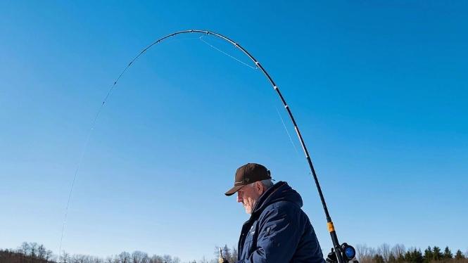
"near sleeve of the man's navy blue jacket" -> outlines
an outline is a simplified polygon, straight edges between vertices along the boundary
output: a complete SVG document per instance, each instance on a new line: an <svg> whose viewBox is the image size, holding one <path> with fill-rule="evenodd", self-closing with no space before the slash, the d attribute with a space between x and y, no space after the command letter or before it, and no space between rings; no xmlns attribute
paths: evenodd
<svg viewBox="0 0 468 263"><path fill-rule="evenodd" d="M290 262L303 234L304 224L298 210L291 207L270 207L260 217L257 248L239 263Z"/></svg>

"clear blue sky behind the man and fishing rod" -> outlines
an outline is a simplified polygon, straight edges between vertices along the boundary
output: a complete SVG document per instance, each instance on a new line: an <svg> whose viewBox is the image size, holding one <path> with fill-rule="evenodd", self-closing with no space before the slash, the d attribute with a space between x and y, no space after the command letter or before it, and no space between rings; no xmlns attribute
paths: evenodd
<svg viewBox="0 0 468 263"><path fill-rule="evenodd" d="M147 44L194 28L238 41L280 86L342 242L467 251L468 4L406 2L1 1L0 248L58 252L110 84ZM223 195L236 167L260 162L301 193L329 250L270 84L194 37L154 46L121 79L84 155L63 249L212 257L248 219Z"/></svg>

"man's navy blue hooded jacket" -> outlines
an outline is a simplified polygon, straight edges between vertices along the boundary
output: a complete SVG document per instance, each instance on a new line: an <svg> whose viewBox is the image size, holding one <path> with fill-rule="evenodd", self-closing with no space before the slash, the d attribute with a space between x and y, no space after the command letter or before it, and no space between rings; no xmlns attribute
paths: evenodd
<svg viewBox="0 0 468 263"><path fill-rule="evenodd" d="M242 226L239 263L324 263L322 249L301 195L279 181L260 196L251 218Z"/></svg>

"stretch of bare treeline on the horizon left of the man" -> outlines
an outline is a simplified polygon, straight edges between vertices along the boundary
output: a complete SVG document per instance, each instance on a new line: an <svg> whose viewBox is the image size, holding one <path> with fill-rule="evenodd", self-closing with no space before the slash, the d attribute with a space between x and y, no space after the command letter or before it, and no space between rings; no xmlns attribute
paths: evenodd
<svg viewBox="0 0 468 263"><path fill-rule="evenodd" d="M222 254L229 262L236 262L237 250L229 249L227 245L222 248ZM219 247L215 247L215 255L211 259L189 261L186 263L217 263ZM179 257L172 255L148 255L146 252L121 252L118 255L95 257L91 255L70 255L62 251L60 257L54 255L44 245L23 242L16 249L0 249L0 263L182 263Z"/></svg>

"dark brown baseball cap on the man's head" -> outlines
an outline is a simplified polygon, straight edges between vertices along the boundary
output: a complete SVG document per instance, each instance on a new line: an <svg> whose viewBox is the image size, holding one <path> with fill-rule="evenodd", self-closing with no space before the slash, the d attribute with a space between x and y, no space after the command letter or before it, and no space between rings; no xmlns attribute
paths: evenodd
<svg viewBox="0 0 468 263"><path fill-rule="evenodd" d="M225 195L233 195L239 191L242 186L252 184L255 181L262 181L265 179L272 179L270 171L267 167L259 165L258 163L248 163L242 165L236 170L236 177L234 177L234 186L229 189Z"/></svg>

